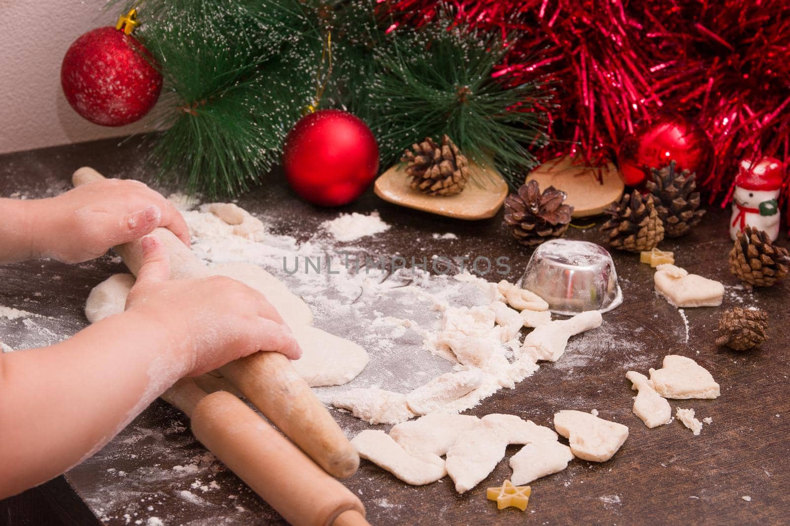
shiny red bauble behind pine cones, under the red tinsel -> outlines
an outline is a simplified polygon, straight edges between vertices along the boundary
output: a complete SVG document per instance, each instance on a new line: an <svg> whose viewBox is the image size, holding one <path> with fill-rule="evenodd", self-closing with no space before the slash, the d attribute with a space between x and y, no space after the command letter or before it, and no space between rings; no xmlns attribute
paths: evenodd
<svg viewBox="0 0 790 526"><path fill-rule="evenodd" d="M651 168L663 168L670 161L678 163L678 170L697 173L697 181L703 181L713 168L713 144L693 122L662 115L626 136L617 154L628 186L640 185Z"/></svg>

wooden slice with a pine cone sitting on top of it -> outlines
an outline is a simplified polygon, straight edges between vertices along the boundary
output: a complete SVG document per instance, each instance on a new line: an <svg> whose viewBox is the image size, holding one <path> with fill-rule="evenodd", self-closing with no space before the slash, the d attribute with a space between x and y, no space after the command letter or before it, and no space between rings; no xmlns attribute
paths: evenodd
<svg viewBox="0 0 790 526"><path fill-rule="evenodd" d="M494 217L507 196L507 183L493 168L470 163L472 178L454 196L427 196L412 190L405 168L405 163L399 163L382 173L373 187L376 195L401 207L468 221Z"/></svg>

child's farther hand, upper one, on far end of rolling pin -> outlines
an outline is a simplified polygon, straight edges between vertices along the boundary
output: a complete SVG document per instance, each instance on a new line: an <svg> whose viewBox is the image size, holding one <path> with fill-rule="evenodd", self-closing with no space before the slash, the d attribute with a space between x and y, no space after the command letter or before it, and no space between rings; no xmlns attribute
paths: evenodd
<svg viewBox="0 0 790 526"><path fill-rule="evenodd" d="M190 244L189 229L179 211L140 181L95 181L30 203L36 207L30 219L34 252L64 263L97 258L157 226Z"/></svg>

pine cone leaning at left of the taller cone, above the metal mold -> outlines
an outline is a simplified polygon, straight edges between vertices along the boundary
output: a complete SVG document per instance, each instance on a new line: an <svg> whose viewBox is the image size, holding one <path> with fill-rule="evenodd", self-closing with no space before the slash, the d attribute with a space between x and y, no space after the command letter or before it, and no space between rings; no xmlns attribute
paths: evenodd
<svg viewBox="0 0 790 526"><path fill-rule="evenodd" d="M642 252L653 250L664 239L664 222L651 195L642 200L634 190L619 203L612 203L606 213L611 218L600 229L611 248Z"/></svg>

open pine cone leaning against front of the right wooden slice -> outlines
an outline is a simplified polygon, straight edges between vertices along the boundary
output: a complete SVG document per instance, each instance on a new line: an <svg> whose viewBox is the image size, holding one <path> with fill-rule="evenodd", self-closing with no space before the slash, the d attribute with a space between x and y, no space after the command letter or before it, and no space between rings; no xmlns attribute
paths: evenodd
<svg viewBox="0 0 790 526"><path fill-rule="evenodd" d="M540 193L538 181L528 181L518 193L505 199L505 224L519 243L541 244L550 237L560 237L568 229L574 207L562 204L565 192L550 186Z"/></svg>

